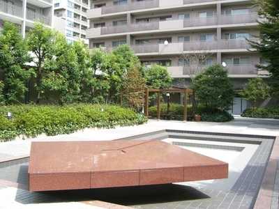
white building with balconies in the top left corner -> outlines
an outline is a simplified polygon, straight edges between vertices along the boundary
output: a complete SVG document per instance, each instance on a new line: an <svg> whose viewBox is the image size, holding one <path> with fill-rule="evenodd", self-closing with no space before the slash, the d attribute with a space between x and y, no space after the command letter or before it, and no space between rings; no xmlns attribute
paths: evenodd
<svg viewBox="0 0 279 209"><path fill-rule="evenodd" d="M35 21L52 27L52 0L0 0L0 26L6 20L15 23L22 29L22 36L33 28Z"/></svg>

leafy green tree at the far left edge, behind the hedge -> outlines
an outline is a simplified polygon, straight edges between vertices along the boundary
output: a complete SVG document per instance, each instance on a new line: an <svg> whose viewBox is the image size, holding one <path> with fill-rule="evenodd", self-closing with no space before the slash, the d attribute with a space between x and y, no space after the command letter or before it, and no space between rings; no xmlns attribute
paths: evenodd
<svg viewBox="0 0 279 209"><path fill-rule="evenodd" d="M5 22L0 36L0 69L3 70L3 88L1 100L12 104L24 98L28 90L32 70L27 70L25 63L31 61L25 40L20 28L11 22Z"/></svg>

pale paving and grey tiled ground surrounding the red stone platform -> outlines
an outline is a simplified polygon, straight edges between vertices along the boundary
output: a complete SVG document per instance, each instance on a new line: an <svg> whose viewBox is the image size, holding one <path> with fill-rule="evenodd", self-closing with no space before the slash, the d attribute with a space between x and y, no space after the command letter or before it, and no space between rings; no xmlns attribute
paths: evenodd
<svg viewBox="0 0 279 209"><path fill-rule="evenodd" d="M144 196L138 198L113 198L95 201L86 194L77 198L77 191L70 192L28 192L27 168L28 163L7 167L6 159L27 157L31 141L58 141L58 140L114 140L130 137L137 134L149 136L148 132L160 130L194 131L211 134L213 139L227 141L243 140L260 141L259 148L250 158L247 166L239 173L237 179L214 180L205 183L181 183L172 185L173 193L160 196ZM208 134L209 134L208 133ZM226 133L226 134L225 134ZM172 133L173 134L173 133ZM160 135L160 134L158 134ZM224 136L225 135L225 136ZM248 136L247 138L247 135ZM260 135L262 137L253 137ZM263 139L270 136L271 139ZM69 135L55 137L38 137L36 139L17 140L0 143L0 208L278 208L279 172L278 153L273 146L274 137L279 136L279 120L240 118L227 123L209 123L193 121L152 121L134 127L117 127L112 130L84 130ZM265 137L266 138L266 137ZM278 140L276 140L277 142ZM270 151L273 148L273 152ZM271 159L269 155L271 153ZM23 158L27 159L27 158ZM266 167L266 162L269 165ZM18 160L20 162L20 160ZM272 164L271 164L272 163ZM264 176L266 176L262 181ZM236 176L236 175L234 175ZM262 187L261 187L262 182ZM261 187L261 189L260 189ZM259 191L259 196L257 192ZM122 192L121 190L106 190L105 192ZM109 195L108 195L109 196ZM257 197L257 199L256 199ZM109 203L110 202L110 203ZM128 207L127 207L128 208Z"/></svg>

